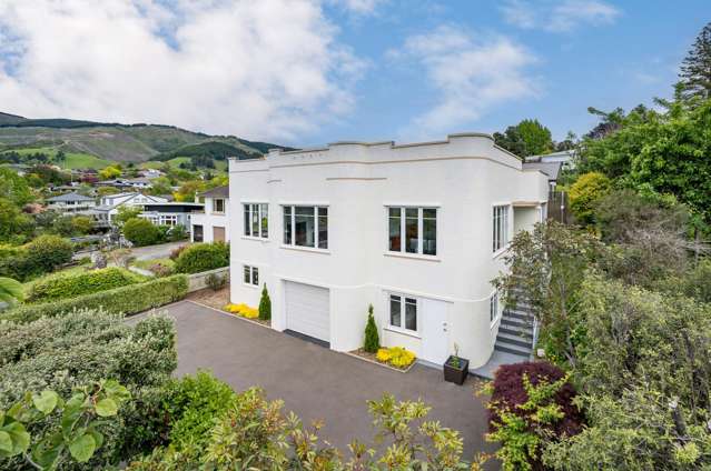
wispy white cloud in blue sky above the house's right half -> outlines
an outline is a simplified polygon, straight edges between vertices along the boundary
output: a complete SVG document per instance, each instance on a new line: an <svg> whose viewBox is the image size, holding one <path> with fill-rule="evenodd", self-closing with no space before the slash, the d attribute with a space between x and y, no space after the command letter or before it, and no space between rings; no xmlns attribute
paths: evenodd
<svg viewBox="0 0 711 471"><path fill-rule="evenodd" d="M441 27L409 37L389 57L415 60L436 91L436 104L403 131L408 137L462 130L493 107L540 90L526 71L536 58L505 37L475 38L461 28Z"/></svg>

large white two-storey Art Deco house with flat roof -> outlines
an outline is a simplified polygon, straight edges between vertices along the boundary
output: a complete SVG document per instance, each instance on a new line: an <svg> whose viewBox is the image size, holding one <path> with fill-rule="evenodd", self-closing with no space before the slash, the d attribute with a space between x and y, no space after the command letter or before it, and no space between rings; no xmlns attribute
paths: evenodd
<svg viewBox="0 0 711 471"><path fill-rule="evenodd" d="M368 304L382 344L441 365L491 357L491 281L515 231L543 220L547 179L491 136L337 142L229 160L230 299L271 298L271 327L352 351Z"/></svg>

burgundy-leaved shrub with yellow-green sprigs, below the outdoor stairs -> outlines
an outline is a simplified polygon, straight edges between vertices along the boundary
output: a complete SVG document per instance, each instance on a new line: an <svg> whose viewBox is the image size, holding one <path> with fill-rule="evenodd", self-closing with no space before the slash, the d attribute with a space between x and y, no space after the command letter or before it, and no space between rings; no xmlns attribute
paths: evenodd
<svg viewBox="0 0 711 471"><path fill-rule="evenodd" d="M540 468L544 445L582 430L569 375L547 362L505 364L488 385L488 441L501 442L504 470Z"/></svg>

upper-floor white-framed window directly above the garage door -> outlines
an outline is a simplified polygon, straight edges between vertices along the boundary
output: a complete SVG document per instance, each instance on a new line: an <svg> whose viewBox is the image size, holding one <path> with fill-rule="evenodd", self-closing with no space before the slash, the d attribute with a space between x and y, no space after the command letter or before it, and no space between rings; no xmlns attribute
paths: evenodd
<svg viewBox="0 0 711 471"><path fill-rule="evenodd" d="M285 206L284 244L328 249L328 207Z"/></svg>

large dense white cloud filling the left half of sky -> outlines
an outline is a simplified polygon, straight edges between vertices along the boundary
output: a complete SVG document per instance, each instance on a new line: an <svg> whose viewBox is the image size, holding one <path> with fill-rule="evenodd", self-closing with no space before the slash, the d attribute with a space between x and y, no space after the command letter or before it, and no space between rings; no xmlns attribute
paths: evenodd
<svg viewBox="0 0 711 471"><path fill-rule="evenodd" d="M366 63L317 0L4 0L0 111L295 141Z"/></svg>

